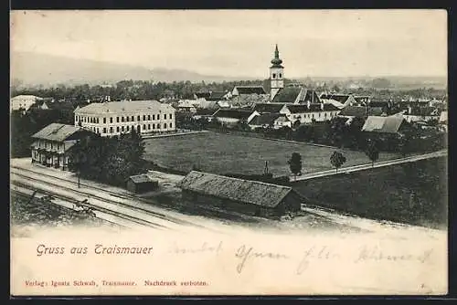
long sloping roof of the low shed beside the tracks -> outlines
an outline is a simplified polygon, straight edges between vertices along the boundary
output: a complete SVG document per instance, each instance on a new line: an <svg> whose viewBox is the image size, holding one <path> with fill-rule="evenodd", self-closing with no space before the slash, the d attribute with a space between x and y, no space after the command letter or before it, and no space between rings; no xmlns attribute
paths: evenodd
<svg viewBox="0 0 457 305"><path fill-rule="evenodd" d="M275 207L292 187L192 171L178 184L184 190L245 204Z"/></svg>

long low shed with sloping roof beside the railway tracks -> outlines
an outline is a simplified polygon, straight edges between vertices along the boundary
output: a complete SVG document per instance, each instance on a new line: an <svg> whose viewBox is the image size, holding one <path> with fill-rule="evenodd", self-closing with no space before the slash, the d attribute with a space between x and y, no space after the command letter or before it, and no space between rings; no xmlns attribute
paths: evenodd
<svg viewBox="0 0 457 305"><path fill-rule="evenodd" d="M297 212L306 199L290 186L192 171L178 184L183 199L251 216Z"/></svg>

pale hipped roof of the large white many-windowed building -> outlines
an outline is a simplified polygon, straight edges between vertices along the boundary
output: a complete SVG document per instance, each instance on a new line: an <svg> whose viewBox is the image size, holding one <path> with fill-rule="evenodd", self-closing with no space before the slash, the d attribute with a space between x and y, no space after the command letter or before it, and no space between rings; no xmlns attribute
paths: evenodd
<svg viewBox="0 0 457 305"><path fill-rule="evenodd" d="M102 103L90 103L87 106L75 110L82 113L119 113L124 111L141 110L173 110L169 104L158 102L157 100L122 100Z"/></svg>

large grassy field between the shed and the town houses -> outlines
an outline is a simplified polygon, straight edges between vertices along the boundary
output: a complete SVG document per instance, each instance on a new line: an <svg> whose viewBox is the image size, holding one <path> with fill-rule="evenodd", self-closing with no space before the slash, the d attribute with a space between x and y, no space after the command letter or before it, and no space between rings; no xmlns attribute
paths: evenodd
<svg viewBox="0 0 457 305"><path fill-rule="evenodd" d="M214 174L262 174L265 162L274 176L290 174L287 160L300 153L303 174L332 168L333 148L306 143L279 142L215 132L168 138L147 139L144 158L161 166L188 172L193 166ZM369 163L365 153L339 150L345 154L344 166ZM379 161L398 157L380 153Z"/></svg>

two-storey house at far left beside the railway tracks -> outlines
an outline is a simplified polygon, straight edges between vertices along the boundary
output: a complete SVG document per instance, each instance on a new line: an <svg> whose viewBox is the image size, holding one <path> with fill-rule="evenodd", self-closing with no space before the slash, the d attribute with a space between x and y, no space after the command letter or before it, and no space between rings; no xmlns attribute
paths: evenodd
<svg viewBox="0 0 457 305"><path fill-rule="evenodd" d="M93 136L93 132L80 127L52 123L32 135L32 163L41 163L67 170L71 162L70 152L74 145L84 137Z"/></svg>

